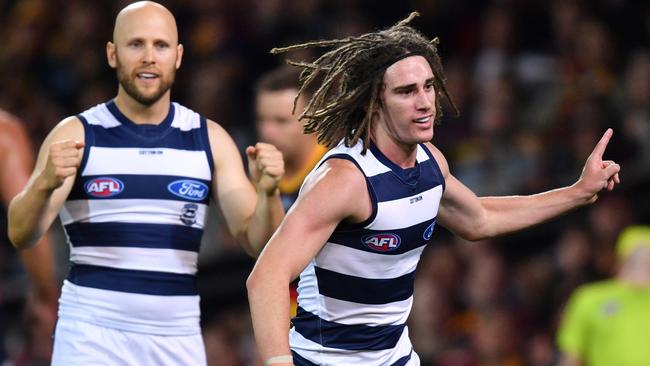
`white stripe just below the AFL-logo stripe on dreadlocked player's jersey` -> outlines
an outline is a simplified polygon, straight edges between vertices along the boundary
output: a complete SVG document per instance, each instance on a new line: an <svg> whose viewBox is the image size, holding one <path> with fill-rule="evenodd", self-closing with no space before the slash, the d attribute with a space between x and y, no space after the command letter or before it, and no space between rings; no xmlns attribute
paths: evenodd
<svg viewBox="0 0 650 366"><path fill-rule="evenodd" d="M423 245L406 253L386 255L328 242L316 256L316 265L348 276L367 279L397 278L415 271L424 248Z"/></svg>

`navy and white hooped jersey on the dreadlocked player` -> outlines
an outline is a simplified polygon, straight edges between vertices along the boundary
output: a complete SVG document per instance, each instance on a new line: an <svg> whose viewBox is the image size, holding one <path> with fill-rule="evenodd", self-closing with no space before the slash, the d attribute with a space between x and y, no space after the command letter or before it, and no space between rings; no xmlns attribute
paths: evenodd
<svg viewBox="0 0 650 366"><path fill-rule="evenodd" d="M444 189L431 152L402 169L372 145L339 144L327 159L347 159L366 176L371 217L341 223L300 275L289 337L296 365L419 365L406 319L420 255ZM319 164L319 165L320 165Z"/></svg>

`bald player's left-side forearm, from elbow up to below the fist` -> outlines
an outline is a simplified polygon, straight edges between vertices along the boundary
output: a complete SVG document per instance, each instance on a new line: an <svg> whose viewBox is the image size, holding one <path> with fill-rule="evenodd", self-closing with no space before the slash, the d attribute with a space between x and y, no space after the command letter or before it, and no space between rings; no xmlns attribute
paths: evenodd
<svg viewBox="0 0 650 366"><path fill-rule="evenodd" d="M17 249L34 245L43 235L41 225L52 190L40 178L31 181L9 204L9 240Z"/></svg>

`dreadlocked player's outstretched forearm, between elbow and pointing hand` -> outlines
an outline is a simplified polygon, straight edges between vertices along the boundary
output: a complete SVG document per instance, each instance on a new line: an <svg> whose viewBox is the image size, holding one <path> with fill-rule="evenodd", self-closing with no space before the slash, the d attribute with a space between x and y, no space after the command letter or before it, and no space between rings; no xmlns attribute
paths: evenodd
<svg viewBox="0 0 650 366"><path fill-rule="evenodd" d="M530 196L482 197L480 201L486 214L479 239L525 229L589 203L576 186Z"/></svg>

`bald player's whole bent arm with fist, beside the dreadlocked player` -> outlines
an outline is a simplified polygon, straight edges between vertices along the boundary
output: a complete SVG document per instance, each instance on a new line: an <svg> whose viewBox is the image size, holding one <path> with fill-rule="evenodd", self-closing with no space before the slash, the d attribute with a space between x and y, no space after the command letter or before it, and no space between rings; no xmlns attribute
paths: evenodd
<svg viewBox="0 0 650 366"><path fill-rule="evenodd" d="M262 143L246 149L253 186L228 133L209 121L208 135L215 164L213 195L231 234L248 254L256 257L284 217L277 188L284 174L282 153Z"/></svg>

